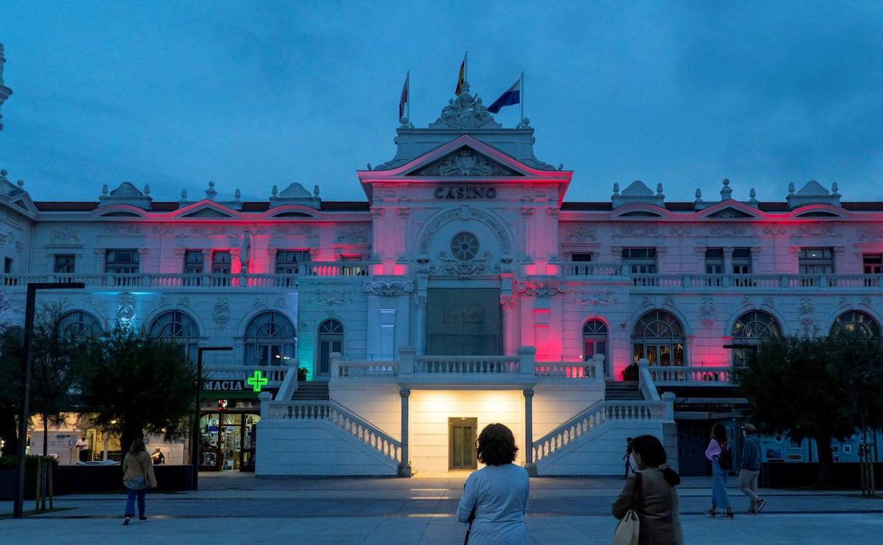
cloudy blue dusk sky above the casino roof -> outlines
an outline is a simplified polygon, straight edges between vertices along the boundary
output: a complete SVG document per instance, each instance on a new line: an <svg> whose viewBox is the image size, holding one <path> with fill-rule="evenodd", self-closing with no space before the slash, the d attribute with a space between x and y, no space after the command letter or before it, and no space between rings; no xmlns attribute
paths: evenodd
<svg viewBox="0 0 883 545"><path fill-rule="evenodd" d="M574 170L568 201L614 182L719 199L790 181L883 200L879 2L3 2L0 168L38 201L95 201L103 184L320 185L364 200L355 170L395 154L411 121L454 95L469 51L488 104L525 72L536 155ZM496 116L517 124L518 107Z"/></svg>

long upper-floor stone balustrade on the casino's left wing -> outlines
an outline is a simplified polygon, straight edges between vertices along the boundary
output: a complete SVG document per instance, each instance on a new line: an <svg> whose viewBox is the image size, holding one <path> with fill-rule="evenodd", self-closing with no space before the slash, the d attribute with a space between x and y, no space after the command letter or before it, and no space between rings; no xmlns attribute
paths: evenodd
<svg viewBox="0 0 883 545"><path fill-rule="evenodd" d="M298 278L369 276L368 263L355 261L328 261L300 263L291 273L285 274L204 274L181 273L134 273L134 274L4 274L0 285L5 288L21 287L36 282L82 282L87 288L188 288L188 289L260 289L296 287Z"/></svg>

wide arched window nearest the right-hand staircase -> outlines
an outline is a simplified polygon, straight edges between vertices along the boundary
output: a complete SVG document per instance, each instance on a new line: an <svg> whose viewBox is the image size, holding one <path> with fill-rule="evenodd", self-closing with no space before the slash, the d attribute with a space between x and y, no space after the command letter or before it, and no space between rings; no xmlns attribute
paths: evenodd
<svg viewBox="0 0 883 545"><path fill-rule="evenodd" d="M652 310L638 319L631 333L634 360L650 365L683 366L683 326L664 310Z"/></svg>

